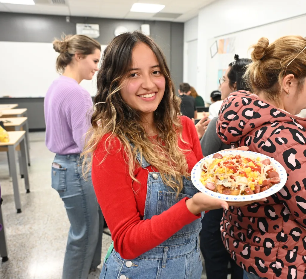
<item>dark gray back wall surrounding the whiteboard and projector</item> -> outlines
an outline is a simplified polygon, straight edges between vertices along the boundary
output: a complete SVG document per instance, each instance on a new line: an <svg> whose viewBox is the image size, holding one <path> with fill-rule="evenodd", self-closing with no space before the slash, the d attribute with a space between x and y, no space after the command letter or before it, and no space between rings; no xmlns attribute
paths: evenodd
<svg viewBox="0 0 306 279"><path fill-rule="evenodd" d="M151 36L166 55L175 85L178 87L183 81L184 23L92 17L70 17L70 22L66 22L65 16L0 12L0 41L49 43L55 37L59 38L62 33L75 34L76 23L99 24L100 36L97 40L101 44L108 44L114 38L114 30L119 25L124 25L129 31L134 31L140 29L141 24L149 24ZM1 91L0 95L2 95ZM1 103L19 103L20 108L28 108L29 128L45 128L41 113L43 112L43 98L13 98L12 100L0 98ZM38 111L37 114L31 109L33 106L39 108L34 110Z"/></svg>

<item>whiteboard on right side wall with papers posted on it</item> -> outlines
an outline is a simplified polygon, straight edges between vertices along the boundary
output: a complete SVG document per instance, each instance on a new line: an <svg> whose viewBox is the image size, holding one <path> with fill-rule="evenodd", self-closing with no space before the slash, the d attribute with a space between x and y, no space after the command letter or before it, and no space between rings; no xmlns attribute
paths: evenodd
<svg viewBox="0 0 306 279"><path fill-rule="evenodd" d="M230 35L209 39L207 41L207 82L205 101L210 102L211 92L218 89L218 71L221 67L224 67L224 64L228 65L229 63L233 62L235 53L238 54L240 58L251 58L250 54L252 50L249 50L249 48L252 44L256 44L261 37L267 37L270 44L282 36L300 35L304 37L306 36L305 25L306 16L300 16L293 19L283 20L253 29L232 33ZM214 43L214 41L217 40L218 42L219 39L230 37L235 38L233 53L222 54L222 59L220 59L218 55L211 58L209 47ZM222 65L220 65L220 60Z"/></svg>

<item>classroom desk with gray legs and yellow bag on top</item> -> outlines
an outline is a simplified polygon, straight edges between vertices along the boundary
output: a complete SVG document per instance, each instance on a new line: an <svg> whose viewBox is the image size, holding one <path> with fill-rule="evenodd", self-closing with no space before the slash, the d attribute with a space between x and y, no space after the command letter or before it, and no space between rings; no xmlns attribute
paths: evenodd
<svg viewBox="0 0 306 279"><path fill-rule="evenodd" d="M16 159L15 159L15 148L18 145L20 145L21 162L19 162L19 164L22 164L22 167L23 167L25 189L27 190L27 193L30 193L30 183L29 183L28 166L27 166L27 158L26 158L26 147L25 147L26 146L25 131L13 131L13 132L8 132L8 134L9 134L9 142L0 142L0 147L8 148L9 169L10 169L11 176L13 179L15 207L17 209L17 213L21 213L21 204L20 204L20 197L19 197Z"/></svg>

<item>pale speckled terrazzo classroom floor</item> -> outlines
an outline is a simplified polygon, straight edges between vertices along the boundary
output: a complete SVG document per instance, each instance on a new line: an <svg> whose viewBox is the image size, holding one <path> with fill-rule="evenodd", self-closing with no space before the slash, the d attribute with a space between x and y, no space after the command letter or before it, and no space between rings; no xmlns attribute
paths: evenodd
<svg viewBox="0 0 306 279"><path fill-rule="evenodd" d="M21 214L15 209L6 153L0 152L2 214L9 257L9 261L0 262L1 279L61 279L62 276L69 221L62 200L50 186L54 154L45 147L44 137L44 132L30 133L31 193L25 193L24 181L19 178ZM102 258L110 242L110 236L103 234Z"/></svg>

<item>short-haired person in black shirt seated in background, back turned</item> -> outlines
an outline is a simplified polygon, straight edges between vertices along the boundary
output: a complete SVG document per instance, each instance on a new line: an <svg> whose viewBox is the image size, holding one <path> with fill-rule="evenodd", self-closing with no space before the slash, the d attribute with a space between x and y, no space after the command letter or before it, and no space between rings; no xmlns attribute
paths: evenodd
<svg viewBox="0 0 306 279"><path fill-rule="evenodd" d="M181 113L190 119L197 118L196 101L190 96L191 90L190 85L186 82L180 84L178 94L182 100L181 102Z"/></svg>

